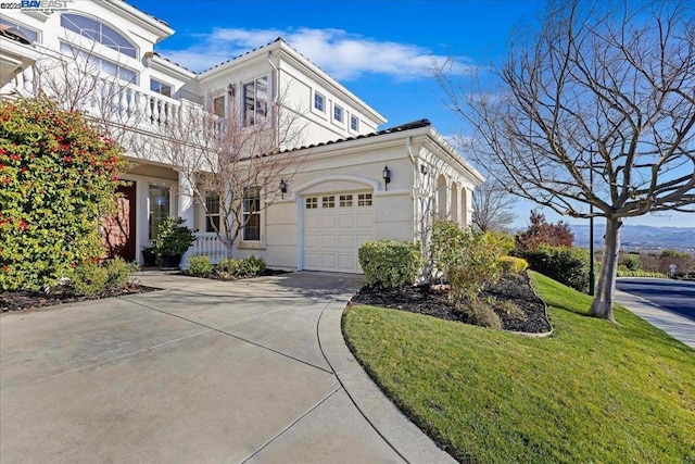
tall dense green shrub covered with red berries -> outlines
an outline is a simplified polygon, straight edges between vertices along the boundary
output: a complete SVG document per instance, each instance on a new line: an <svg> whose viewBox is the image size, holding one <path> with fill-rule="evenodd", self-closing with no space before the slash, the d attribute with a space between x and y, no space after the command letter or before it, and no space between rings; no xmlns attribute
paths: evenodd
<svg viewBox="0 0 695 464"><path fill-rule="evenodd" d="M122 150L48 99L0 102L0 288L36 290L103 254Z"/></svg>

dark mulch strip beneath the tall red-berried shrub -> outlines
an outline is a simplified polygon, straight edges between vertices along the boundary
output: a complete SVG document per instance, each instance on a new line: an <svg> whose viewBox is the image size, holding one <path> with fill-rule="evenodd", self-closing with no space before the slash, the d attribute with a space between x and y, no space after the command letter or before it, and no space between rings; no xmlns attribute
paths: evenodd
<svg viewBox="0 0 695 464"><path fill-rule="evenodd" d="M76 297L64 289L53 289L49 293L42 291L0 291L0 312L30 310L34 308L53 306L56 304L75 303L87 300L123 297L125 294L143 293L159 290L159 288L132 284L125 288L108 290L90 297Z"/></svg>

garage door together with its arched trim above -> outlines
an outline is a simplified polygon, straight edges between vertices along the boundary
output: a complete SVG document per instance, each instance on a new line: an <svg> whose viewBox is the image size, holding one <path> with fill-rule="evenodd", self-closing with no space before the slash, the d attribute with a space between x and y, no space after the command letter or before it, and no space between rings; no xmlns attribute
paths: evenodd
<svg viewBox="0 0 695 464"><path fill-rule="evenodd" d="M374 240L375 191L359 176L331 175L294 190L300 210L298 261L306 271L361 273L357 250Z"/></svg>

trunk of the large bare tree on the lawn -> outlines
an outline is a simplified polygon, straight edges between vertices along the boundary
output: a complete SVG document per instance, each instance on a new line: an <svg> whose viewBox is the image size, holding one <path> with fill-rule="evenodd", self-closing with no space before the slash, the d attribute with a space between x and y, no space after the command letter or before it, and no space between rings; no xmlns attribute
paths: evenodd
<svg viewBox="0 0 695 464"><path fill-rule="evenodd" d="M591 314L610 322L616 322L612 315L612 298L616 291L616 273L618 271L618 252L620 251L620 227L622 221L617 218L606 220L606 236L604 244L604 258L601 263L601 274L594 302L591 305Z"/></svg>

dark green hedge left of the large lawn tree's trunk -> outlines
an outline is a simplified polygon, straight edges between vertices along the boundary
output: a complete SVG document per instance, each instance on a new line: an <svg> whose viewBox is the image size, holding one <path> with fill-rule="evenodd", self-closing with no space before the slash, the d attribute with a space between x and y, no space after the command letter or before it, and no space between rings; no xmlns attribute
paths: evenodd
<svg viewBox="0 0 695 464"><path fill-rule="evenodd" d="M589 291L589 252L579 248L541 247L516 250L529 266L576 290Z"/></svg>

